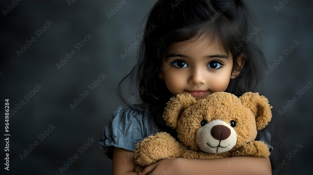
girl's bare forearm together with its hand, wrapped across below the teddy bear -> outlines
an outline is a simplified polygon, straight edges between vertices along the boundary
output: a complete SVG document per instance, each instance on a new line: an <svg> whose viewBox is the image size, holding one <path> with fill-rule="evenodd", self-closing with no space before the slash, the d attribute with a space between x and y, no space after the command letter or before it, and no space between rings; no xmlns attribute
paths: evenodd
<svg viewBox="0 0 313 175"><path fill-rule="evenodd" d="M182 160L179 160L182 159ZM271 175L269 157L241 156L216 159L164 159L142 170L140 175Z"/></svg>

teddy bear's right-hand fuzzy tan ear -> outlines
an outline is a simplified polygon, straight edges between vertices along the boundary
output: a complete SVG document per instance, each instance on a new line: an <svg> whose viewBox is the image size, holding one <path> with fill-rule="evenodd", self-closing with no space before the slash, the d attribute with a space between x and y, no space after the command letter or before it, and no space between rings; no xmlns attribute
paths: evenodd
<svg viewBox="0 0 313 175"><path fill-rule="evenodd" d="M255 116L257 130L263 129L271 120L272 106L269 105L269 101L263 95L259 93L247 92L239 97L244 107L249 108Z"/></svg>

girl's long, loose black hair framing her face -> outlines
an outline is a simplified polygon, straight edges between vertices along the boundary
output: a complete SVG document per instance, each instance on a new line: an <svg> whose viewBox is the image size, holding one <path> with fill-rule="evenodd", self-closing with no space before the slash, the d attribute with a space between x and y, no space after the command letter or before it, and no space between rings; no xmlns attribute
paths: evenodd
<svg viewBox="0 0 313 175"><path fill-rule="evenodd" d="M261 94L262 89L258 88L264 77L266 60L258 42L264 28L249 8L242 0L156 2L146 15L143 31L139 32L137 63L118 84L117 90L123 103L131 108L132 105L147 105L156 125L178 139L176 131L166 126L162 118L166 103L174 94L157 73L163 69L162 63L171 43L190 39L196 41L200 36L211 42L219 41L222 49L233 58L233 71L240 70L236 78L230 79L225 92L237 97L245 92ZM240 63L244 63L243 67ZM124 83L127 84L123 86ZM121 88L131 90L131 83L136 92L131 92L134 95L126 101ZM139 103L135 104L135 101Z"/></svg>

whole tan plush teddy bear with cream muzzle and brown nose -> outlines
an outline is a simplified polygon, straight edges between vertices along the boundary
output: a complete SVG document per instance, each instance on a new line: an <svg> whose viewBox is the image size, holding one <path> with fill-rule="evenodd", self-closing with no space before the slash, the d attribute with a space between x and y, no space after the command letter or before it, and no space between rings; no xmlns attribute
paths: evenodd
<svg viewBox="0 0 313 175"><path fill-rule="evenodd" d="M271 120L271 108L259 93L238 98L215 92L198 101L189 93L177 94L167 102L163 119L179 141L166 132L144 138L134 151L135 172L162 159L268 157L268 146L254 140Z"/></svg>

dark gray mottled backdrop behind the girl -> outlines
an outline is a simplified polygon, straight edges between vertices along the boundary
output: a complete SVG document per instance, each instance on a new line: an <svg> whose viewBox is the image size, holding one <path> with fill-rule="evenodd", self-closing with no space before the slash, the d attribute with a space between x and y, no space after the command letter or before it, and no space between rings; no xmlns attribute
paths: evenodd
<svg viewBox="0 0 313 175"><path fill-rule="evenodd" d="M6 17L0 15L1 108L7 98L10 108L25 101L9 121L11 174L60 174L59 167L63 167L74 154L79 158L63 174L111 174L112 161L101 152L97 141L113 111L122 104L116 93L117 83L135 63L136 51L124 60L120 54L136 40L140 22L156 0L126 0L109 20L106 13L120 2L76 1L69 7L65 0L21 1ZM297 98L280 118L286 122L287 153L295 150L296 144L301 143L304 147L290 161L284 158L286 167L290 168L284 174L309 174L308 167L312 163L308 154L312 143L310 125L313 121L308 109L312 106L313 88L308 88L301 97L296 93L313 78L310 53L313 2L290 0L278 13L275 10L280 3L278 0L248 2L263 23L262 30L267 33L264 53L268 64L284 57L265 79L265 96L275 112L281 110L287 100ZM1 1L1 11L11 3ZM37 37L35 32L46 20L53 24ZM93 37L58 70L56 64L75 49L74 45L86 33ZM18 57L16 50L20 50L31 37L36 41ZM285 57L282 52L292 45L293 40L301 43ZM106 78L90 91L89 84L95 82L99 74ZM42 88L26 101L24 95L38 83ZM90 94L72 111L69 104L73 104L85 90ZM3 118L1 133L4 133ZM49 124L56 128L40 141L38 135L44 133ZM96 141L80 155L77 149L89 138ZM23 149L36 140L39 145L21 161L19 155L23 154ZM2 139L1 150L3 147ZM1 171L8 174L3 168Z"/></svg>

